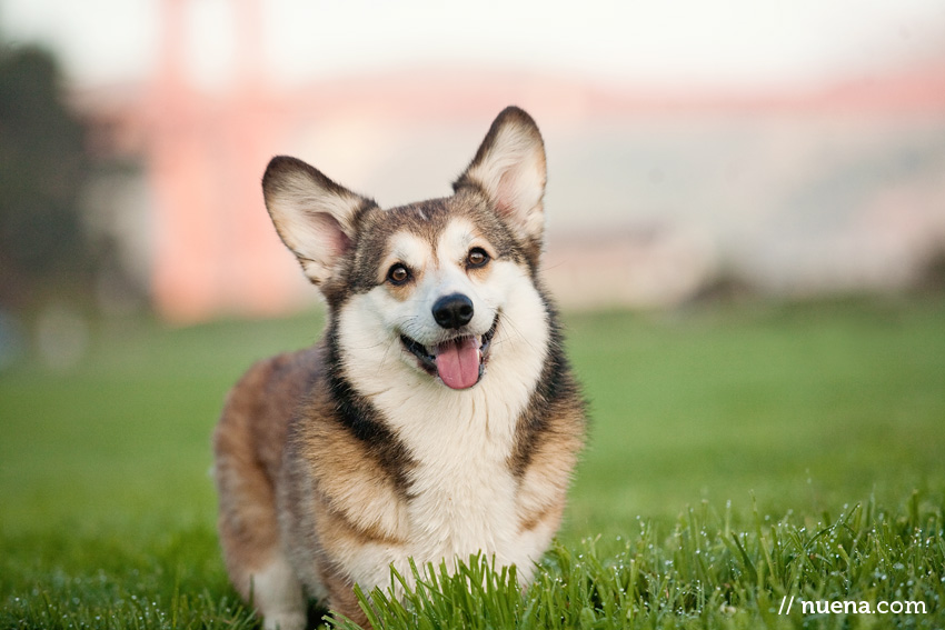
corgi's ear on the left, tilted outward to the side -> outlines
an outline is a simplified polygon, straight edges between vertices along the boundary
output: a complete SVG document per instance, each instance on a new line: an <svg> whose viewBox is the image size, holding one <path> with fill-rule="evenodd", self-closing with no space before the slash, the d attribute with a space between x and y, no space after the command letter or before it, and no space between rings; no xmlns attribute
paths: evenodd
<svg viewBox="0 0 945 630"><path fill-rule="evenodd" d="M296 158L272 158L262 176L266 209L279 238L315 284L331 277L355 240L358 216L376 206Z"/></svg>

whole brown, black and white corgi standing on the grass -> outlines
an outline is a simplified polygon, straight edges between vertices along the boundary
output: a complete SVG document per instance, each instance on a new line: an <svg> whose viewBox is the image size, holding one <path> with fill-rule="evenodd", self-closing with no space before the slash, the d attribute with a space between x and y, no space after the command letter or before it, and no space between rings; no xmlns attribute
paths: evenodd
<svg viewBox="0 0 945 630"><path fill-rule="evenodd" d="M540 278L545 147L509 107L454 194L381 209L289 157L266 208L328 308L314 347L252 366L213 434L219 533L267 629L391 566L481 553L525 587L556 533L586 414Z"/></svg>

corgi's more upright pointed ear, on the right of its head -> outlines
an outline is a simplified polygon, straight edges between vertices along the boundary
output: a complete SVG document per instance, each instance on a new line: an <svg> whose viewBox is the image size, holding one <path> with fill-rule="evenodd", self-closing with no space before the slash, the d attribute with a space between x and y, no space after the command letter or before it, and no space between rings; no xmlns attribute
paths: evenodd
<svg viewBox="0 0 945 630"><path fill-rule="evenodd" d="M545 143L538 126L525 111L508 107L493 122L472 162L452 188L479 188L525 241L540 242L545 170Z"/></svg>

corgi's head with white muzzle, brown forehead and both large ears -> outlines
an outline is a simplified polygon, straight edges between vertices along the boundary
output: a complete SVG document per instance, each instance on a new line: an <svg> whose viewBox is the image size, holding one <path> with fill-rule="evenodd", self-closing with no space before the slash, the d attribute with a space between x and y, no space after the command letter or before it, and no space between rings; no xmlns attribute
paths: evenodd
<svg viewBox="0 0 945 630"><path fill-rule="evenodd" d="M548 334L536 286L545 150L504 110L444 199L382 210L295 158L262 180L276 230L331 309L345 360L467 389L506 353L537 378ZM494 357L495 354L495 357ZM400 372L405 370L406 372Z"/></svg>

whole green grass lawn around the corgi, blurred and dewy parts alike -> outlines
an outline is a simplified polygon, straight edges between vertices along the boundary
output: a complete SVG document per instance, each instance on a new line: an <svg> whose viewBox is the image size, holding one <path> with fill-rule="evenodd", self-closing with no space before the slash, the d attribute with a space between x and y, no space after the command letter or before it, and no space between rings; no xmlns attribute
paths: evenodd
<svg viewBox="0 0 945 630"><path fill-rule="evenodd" d="M566 323L591 440L535 586L474 560L407 609L376 597L380 621L945 626L945 299ZM109 323L68 373L0 373L0 628L253 628L217 549L209 436L252 360L320 328Z"/></svg>

